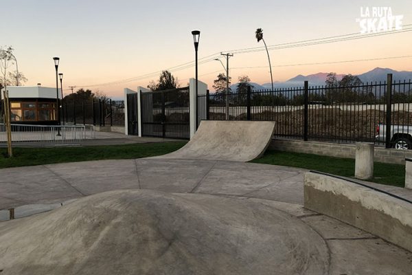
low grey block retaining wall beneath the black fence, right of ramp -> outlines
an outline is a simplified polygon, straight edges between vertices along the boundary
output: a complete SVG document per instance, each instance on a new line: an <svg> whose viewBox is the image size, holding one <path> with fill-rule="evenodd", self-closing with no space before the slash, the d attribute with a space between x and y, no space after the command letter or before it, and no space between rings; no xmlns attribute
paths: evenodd
<svg viewBox="0 0 412 275"><path fill-rule="evenodd" d="M336 144L328 142L304 142L303 140L274 139L269 146L279 151L328 155L330 157L355 158L355 144ZM375 146L374 161L389 164L405 164L405 158L412 158L412 150L386 149Z"/></svg>

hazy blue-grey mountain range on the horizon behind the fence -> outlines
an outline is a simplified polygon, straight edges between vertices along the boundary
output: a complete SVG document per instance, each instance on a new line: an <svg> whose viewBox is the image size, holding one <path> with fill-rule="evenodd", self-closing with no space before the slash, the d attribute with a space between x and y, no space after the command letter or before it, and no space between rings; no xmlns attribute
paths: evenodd
<svg viewBox="0 0 412 275"><path fill-rule="evenodd" d="M358 78L362 80L363 83L370 83L370 82L379 82L387 80L387 74L393 74L393 80L409 80L412 79L412 72L401 71L398 72L394 69L389 68L380 68L376 67L369 72L365 72L363 74L358 74ZM336 74L336 78L341 80L344 74ZM328 73L317 73L317 74L310 74L308 76L302 76L301 74L295 76L294 78L290 78L284 82L275 82L273 83L273 87L276 88L288 88L288 87L302 87L304 85L304 81L308 80L309 86L319 86L325 85L325 80L328 77ZM258 83L251 83L253 85L253 89L260 90L260 89L271 89L271 83L264 83L262 85ZM232 91L236 91L236 87L238 87L238 83L235 83L230 86Z"/></svg>

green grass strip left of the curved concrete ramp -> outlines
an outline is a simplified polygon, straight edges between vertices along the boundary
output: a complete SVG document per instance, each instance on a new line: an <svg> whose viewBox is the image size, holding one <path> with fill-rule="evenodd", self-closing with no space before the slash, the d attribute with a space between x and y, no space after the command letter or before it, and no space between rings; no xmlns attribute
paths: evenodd
<svg viewBox="0 0 412 275"><path fill-rule="evenodd" d="M7 156L7 148L0 148L0 168L84 162L98 159L133 159L152 157L176 151L186 142L137 143L107 146L13 148L13 157Z"/></svg>

